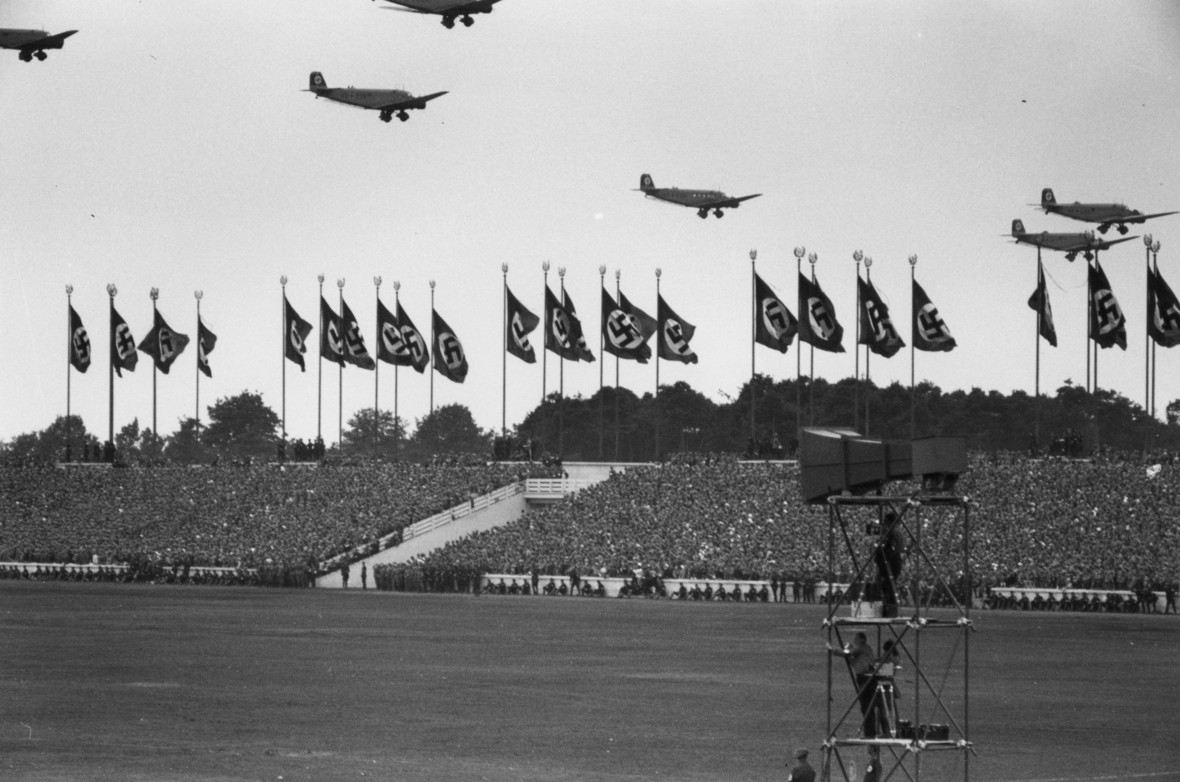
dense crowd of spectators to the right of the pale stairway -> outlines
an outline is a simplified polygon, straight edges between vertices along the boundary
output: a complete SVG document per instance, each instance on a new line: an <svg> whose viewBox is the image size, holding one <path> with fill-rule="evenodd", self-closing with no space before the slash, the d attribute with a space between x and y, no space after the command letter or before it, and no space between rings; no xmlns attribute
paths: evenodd
<svg viewBox="0 0 1180 782"><path fill-rule="evenodd" d="M912 491L912 484L886 487ZM981 599L978 590L989 585L1115 590L1171 583L1180 573L1180 464L974 454L958 492L972 500L969 567ZM949 510L922 511L927 573L932 565L962 580L959 520ZM794 465L717 459L615 474L448 544L421 567L524 574L546 561L560 563L563 573L761 573L793 584L824 578L827 544L827 506L802 504ZM841 551L835 580L852 572ZM929 578L917 586L923 600L949 603L948 587Z"/></svg>

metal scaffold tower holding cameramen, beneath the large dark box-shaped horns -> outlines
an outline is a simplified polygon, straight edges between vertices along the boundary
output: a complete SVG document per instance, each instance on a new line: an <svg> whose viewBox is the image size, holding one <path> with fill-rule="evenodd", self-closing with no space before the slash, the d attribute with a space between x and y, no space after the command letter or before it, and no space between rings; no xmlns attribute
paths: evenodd
<svg viewBox="0 0 1180 782"><path fill-rule="evenodd" d="M951 481L951 488L953 481ZM821 780L969 780L970 506L837 495L828 505L827 735ZM949 563L961 563L950 565Z"/></svg>

